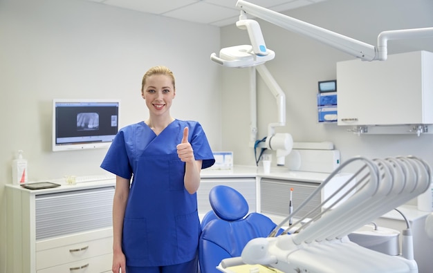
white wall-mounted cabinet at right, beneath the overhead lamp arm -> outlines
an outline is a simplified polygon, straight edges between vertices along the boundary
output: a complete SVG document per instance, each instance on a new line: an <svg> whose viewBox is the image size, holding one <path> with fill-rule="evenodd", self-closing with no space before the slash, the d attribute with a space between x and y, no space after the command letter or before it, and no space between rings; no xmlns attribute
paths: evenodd
<svg viewBox="0 0 433 273"><path fill-rule="evenodd" d="M337 63L338 125L433 124L433 53Z"/></svg>

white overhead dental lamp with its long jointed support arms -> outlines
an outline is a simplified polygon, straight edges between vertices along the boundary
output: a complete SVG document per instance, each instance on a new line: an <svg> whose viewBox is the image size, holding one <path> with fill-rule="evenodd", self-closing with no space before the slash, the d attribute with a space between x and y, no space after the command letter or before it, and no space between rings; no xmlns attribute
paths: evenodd
<svg viewBox="0 0 433 273"><path fill-rule="evenodd" d="M228 68L250 68L250 143L257 141L257 114L255 113L257 107L255 101L255 79L257 73L264 79L266 86L268 86L273 93L277 101L278 121L268 124L266 142L261 148L276 151L277 165L284 165L286 156L288 156L292 149L299 143L293 142L290 133L275 133L275 127L286 126L286 97L265 66L266 62L275 58L275 52L266 47L259 23L255 20L248 19L247 14L259 19L264 19L286 30L320 41L364 61L385 61L387 59L387 41L389 40L433 37L433 28L388 30L378 35L378 46L372 46L351 37L332 32L331 30L314 26L311 23L306 23L293 17L282 15L279 12L257 6L248 1L239 0L236 6L241 10L236 26L241 30L247 30L251 44L221 48L219 56L216 55L216 53L212 53L210 59ZM317 143L314 144L317 146ZM319 144L318 146L322 145Z"/></svg>

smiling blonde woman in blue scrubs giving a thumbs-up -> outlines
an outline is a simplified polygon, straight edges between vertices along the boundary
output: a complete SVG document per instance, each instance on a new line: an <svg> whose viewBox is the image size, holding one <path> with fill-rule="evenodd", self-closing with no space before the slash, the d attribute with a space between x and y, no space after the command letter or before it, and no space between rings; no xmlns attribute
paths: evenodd
<svg viewBox="0 0 433 273"><path fill-rule="evenodd" d="M215 160L199 122L176 120L171 70L142 79L149 119L120 129L101 167L116 174L113 272L195 273L201 232L196 191Z"/></svg>

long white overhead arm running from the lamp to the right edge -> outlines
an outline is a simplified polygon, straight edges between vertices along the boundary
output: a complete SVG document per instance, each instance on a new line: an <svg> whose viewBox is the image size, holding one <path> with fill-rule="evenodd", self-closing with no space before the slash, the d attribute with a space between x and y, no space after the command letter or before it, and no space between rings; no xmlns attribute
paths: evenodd
<svg viewBox="0 0 433 273"><path fill-rule="evenodd" d="M326 30L311 23L306 23L298 19L282 15L279 12L262 8L247 1L239 0L236 4L237 8L243 10L249 15L264 19L275 24L296 32L306 37L310 37L324 44L337 48L338 50L348 53L349 55L358 57L365 61L386 60L387 59L387 40L388 39L408 39L408 38L423 38L433 37L433 28L414 28L407 30L389 30L381 32L378 36L378 48L366 44L362 41L352 39L350 37L340 35L331 30Z"/></svg>

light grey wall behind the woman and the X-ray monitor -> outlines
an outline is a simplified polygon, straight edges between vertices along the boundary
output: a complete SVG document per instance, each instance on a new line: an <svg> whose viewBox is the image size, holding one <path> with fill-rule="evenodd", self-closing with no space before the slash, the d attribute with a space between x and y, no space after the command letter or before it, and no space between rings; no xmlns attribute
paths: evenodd
<svg viewBox="0 0 433 273"><path fill-rule="evenodd" d="M200 44L197 44L200 41ZM107 149L53 153L51 100L120 99L120 125L147 118L140 97L145 71L172 68L172 115L198 120L212 149L221 149L220 30L91 1L0 0L0 272L6 263L4 185L18 149L30 180L104 173Z"/></svg>

